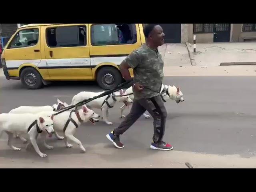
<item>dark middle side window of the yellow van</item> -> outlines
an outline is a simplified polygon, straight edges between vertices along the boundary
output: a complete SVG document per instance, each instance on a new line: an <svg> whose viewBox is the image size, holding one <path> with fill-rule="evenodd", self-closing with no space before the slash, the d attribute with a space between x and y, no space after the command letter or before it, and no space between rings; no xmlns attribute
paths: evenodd
<svg viewBox="0 0 256 192"><path fill-rule="evenodd" d="M66 26L46 29L49 47L86 46L86 26Z"/></svg>

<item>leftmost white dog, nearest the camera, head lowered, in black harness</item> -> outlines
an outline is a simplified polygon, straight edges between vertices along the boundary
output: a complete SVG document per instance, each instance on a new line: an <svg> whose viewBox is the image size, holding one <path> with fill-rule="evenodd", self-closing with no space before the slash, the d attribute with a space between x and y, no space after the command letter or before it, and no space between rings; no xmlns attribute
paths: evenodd
<svg viewBox="0 0 256 192"><path fill-rule="evenodd" d="M46 131L48 134L54 133L53 130L53 118L52 116L37 116L35 114L10 114L2 113L0 114L0 135L4 131L8 134L8 146L15 151L21 150L20 148L14 147L12 145L13 133L28 133L30 142L34 146L36 152L40 157L46 157L46 154L43 154L36 143L36 138L38 134L43 131ZM46 134L43 134L44 146L48 149L52 149L53 146L46 144Z"/></svg>

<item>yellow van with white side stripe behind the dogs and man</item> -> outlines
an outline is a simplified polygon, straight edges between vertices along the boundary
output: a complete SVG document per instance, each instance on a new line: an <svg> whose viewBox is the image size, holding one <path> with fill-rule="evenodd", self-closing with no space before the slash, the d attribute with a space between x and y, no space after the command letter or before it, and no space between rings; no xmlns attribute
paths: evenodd
<svg viewBox="0 0 256 192"><path fill-rule="evenodd" d="M144 42L142 24L28 24L10 38L2 66L30 89L71 80L111 89L123 81L120 63Z"/></svg>

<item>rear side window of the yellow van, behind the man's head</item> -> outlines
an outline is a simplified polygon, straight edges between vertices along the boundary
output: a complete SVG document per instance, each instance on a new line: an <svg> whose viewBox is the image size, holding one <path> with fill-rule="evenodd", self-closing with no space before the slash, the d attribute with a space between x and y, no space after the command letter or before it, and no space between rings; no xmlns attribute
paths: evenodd
<svg viewBox="0 0 256 192"><path fill-rule="evenodd" d="M94 24L91 26L92 45L134 44L136 42L135 24Z"/></svg>

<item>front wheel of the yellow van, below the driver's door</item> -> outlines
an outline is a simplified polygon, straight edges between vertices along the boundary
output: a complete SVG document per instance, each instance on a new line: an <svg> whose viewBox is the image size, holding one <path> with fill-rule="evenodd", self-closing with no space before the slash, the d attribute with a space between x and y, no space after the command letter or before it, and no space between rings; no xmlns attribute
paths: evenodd
<svg viewBox="0 0 256 192"><path fill-rule="evenodd" d="M32 67L28 67L22 70L20 74L20 80L22 84L28 89L39 89L43 85L40 73Z"/></svg>

